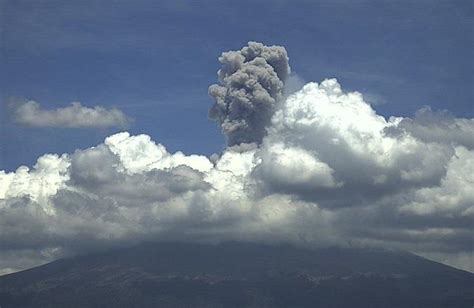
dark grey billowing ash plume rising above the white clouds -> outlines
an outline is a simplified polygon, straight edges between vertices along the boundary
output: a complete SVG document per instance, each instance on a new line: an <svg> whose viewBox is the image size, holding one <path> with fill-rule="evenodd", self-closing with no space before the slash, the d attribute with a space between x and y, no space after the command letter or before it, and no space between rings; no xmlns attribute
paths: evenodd
<svg viewBox="0 0 474 308"><path fill-rule="evenodd" d="M260 143L290 73L286 49L249 42L219 57L219 84L209 87L215 100L209 111L229 145Z"/></svg>

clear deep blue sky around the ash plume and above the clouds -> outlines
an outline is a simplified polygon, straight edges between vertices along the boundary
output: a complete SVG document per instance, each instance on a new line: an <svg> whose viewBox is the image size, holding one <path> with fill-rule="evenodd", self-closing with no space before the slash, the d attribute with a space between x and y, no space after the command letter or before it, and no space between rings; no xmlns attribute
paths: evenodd
<svg viewBox="0 0 474 308"><path fill-rule="evenodd" d="M219 54L249 40L285 46L302 79L336 77L385 116L474 116L471 1L0 0L0 12L0 170L120 130L22 127L7 107L19 99L115 106L170 151L221 151L207 88Z"/></svg>

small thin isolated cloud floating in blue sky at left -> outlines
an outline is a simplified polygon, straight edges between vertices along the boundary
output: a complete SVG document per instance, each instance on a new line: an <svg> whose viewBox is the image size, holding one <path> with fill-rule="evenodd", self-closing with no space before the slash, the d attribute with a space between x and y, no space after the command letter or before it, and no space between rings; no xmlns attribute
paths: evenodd
<svg viewBox="0 0 474 308"><path fill-rule="evenodd" d="M35 101L28 101L16 106L15 121L32 127L68 127L68 128L97 128L121 127L129 124L125 114L116 109L106 109L101 106L89 108L79 102L54 110L44 110Z"/></svg>

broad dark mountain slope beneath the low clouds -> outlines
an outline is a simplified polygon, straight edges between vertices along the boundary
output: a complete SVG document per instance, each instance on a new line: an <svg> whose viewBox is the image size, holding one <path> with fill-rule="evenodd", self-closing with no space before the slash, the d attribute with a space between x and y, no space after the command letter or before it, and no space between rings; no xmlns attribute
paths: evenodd
<svg viewBox="0 0 474 308"><path fill-rule="evenodd" d="M474 274L369 248L146 243L0 277L8 307L472 307Z"/></svg>

